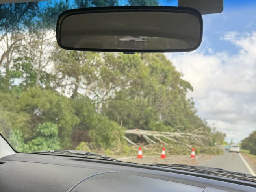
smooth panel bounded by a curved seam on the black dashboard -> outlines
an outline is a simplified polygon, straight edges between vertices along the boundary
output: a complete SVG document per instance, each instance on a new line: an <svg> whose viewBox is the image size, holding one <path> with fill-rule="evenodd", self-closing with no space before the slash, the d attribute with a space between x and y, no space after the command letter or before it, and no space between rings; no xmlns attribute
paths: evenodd
<svg viewBox="0 0 256 192"><path fill-rule="evenodd" d="M203 192L204 188L136 175L109 173L96 175L78 185L72 192Z"/></svg>

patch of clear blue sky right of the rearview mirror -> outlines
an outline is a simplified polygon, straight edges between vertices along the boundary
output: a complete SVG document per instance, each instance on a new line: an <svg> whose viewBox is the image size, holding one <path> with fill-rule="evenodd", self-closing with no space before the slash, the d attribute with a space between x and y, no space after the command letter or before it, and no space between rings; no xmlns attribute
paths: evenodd
<svg viewBox="0 0 256 192"><path fill-rule="evenodd" d="M204 41L201 48L211 46L214 50L236 52L237 47L219 39L228 31L239 33L256 30L256 1L227 0L223 13L203 15Z"/></svg>

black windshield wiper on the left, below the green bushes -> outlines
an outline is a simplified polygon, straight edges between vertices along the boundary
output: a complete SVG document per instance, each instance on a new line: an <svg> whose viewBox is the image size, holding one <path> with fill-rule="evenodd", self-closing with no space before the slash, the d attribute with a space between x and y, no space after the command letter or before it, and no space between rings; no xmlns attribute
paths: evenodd
<svg viewBox="0 0 256 192"><path fill-rule="evenodd" d="M91 152L87 152L87 151L78 151L78 150L45 150L45 151L33 151L32 153L77 155L77 156L82 156L82 157L98 157L100 159L105 159L105 160L119 161L117 159L114 159L113 157L108 157L106 155L100 155L97 153L91 153Z"/></svg>

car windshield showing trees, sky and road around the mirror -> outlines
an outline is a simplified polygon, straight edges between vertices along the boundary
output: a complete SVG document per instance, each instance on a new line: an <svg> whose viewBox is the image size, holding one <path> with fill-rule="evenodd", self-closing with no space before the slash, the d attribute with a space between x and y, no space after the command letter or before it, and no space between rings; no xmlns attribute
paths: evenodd
<svg viewBox="0 0 256 192"><path fill-rule="evenodd" d="M193 52L79 52L57 45L60 13L100 6L178 2L0 4L0 133L11 146L254 175L256 3L226 0L222 13L203 15L202 44Z"/></svg>

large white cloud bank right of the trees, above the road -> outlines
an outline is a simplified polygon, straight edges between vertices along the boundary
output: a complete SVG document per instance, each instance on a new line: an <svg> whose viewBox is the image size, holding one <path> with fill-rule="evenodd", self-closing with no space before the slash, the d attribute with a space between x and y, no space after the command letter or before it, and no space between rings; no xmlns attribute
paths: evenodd
<svg viewBox="0 0 256 192"><path fill-rule="evenodd" d="M256 32L229 32L221 38L239 48L237 54L194 51L167 54L194 87L198 114L236 142L256 129ZM228 51L228 50L227 50Z"/></svg>

